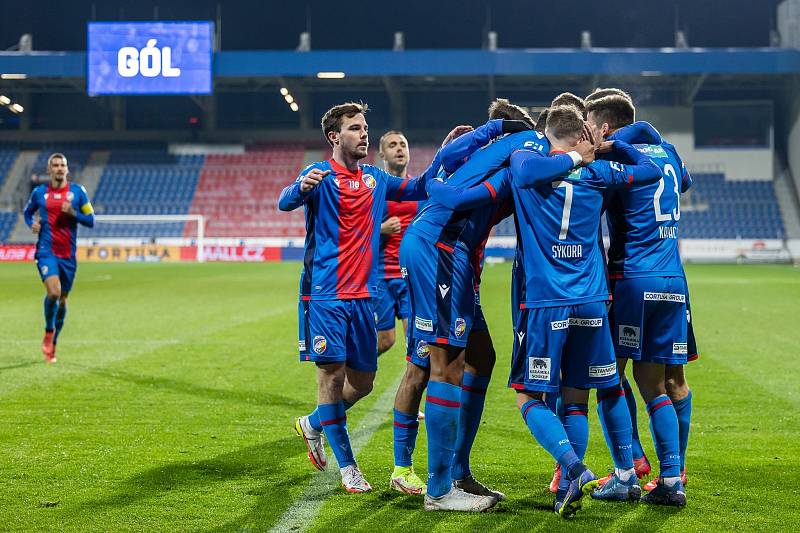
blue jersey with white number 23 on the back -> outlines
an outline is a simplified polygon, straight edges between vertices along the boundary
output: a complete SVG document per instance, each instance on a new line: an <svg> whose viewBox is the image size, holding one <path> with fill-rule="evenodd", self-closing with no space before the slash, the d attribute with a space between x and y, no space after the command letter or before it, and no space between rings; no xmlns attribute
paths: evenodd
<svg viewBox="0 0 800 533"><path fill-rule="evenodd" d="M624 130L615 137L623 137ZM636 138L631 140L637 142ZM662 177L655 183L615 191L609 196L609 274L617 278L683 276L678 248L680 195L691 186L691 176L670 143L634 147L653 160Z"/></svg>

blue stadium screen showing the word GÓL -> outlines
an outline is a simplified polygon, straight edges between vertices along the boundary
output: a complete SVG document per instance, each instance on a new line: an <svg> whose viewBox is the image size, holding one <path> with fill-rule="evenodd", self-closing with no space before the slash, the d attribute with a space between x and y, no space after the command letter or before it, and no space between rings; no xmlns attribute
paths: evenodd
<svg viewBox="0 0 800 533"><path fill-rule="evenodd" d="M210 94L212 22L90 22L87 90Z"/></svg>

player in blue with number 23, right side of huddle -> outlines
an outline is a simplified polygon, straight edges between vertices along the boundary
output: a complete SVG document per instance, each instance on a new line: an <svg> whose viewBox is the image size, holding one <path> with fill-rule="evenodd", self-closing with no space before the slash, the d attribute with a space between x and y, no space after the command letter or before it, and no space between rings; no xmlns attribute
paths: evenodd
<svg viewBox="0 0 800 533"><path fill-rule="evenodd" d="M680 194L691 186L691 176L674 146L657 132L633 124L635 108L629 97L610 94L592 99L588 111L589 122L604 137L636 143L663 172L658 182L617 191L607 201L609 272L614 280L611 318L620 373L623 375L626 360L632 359L660 463L659 478L644 501L682 506L686 504L681 480L686 442L681 442L677 412L686 404L688 441L691 396L683 379L688 352L687 291L678 225ZM670 381L673 386L668 385ZM627 396L629 390L630 386L616 392ZM681 396L673 399L677 394ZM598 396L598 403L604 400ZM640 450L641 445L636 451ZM613 497L617 484L612 477L594 496Z"/></svg>

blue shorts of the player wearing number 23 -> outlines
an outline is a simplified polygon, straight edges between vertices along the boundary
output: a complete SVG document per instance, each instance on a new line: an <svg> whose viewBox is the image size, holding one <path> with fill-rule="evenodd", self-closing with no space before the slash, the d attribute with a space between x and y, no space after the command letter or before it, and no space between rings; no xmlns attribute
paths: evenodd
<svg viewBox="0 0 800 533"><path fill-rule="evenodd" d="M686 364L684 278L618 279L611 313L617 357L664 365Z"/></svg>

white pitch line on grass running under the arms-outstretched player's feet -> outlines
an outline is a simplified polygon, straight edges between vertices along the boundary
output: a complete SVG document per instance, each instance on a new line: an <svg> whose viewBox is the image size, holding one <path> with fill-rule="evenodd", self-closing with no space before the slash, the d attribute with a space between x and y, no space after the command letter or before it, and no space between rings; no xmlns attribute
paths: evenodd
<svg viewBox="0 0 800 533"><path fill-rule="evenodd" d="M405 369L405 367L403 367ZM378 397L378 400L370 408L370 411L361 420L358 428L350 434L350 443L353 446L353 454L358 456L361 448L366 445L375 431L380 427L386 416L391 412L392 405L394 405L394 396L397 392L397 387L400 385L400 380L403 375L400 374L386 390ZM356 407L358 409L358 407ZM348 428L349 430L350 428ZM319 514L325 500L328 499L331 492L333 492L341 482L339 469L334 466L336 459L333 457L328 458L328 470L324 472L314 472L311 475L311 480L303 493L295 500L295 502L286 509L278 522L272 526L270 531L274 532L292 532L305 531L308 526L314 521L314 518ZM373 489L374 490L374 489Z"/></svg>

